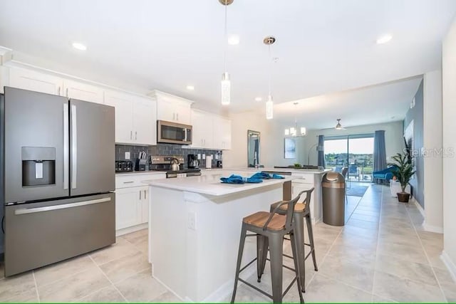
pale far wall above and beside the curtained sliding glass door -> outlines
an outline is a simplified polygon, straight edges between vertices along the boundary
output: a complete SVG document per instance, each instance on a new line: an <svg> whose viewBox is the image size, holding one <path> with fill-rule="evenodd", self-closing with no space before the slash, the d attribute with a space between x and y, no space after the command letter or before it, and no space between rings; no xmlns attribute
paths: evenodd
<svg viewBox="0 0 456 304"><path fill-rule="evenodd" d="M325 129L325 130L311 130L306 137L306 159L307 152L313 145L318 142L318 135L324 136L340 136L340 135L353 135L353 134L373 134L377 130L385 130L385 149L387 162L389 157L396 153L403 152L403 122L388 122L377 125L361 125L358 127L348 127L346 130ZM317 164L318 156L316 148L312 148L310 152L310 164Z"/></svg>

